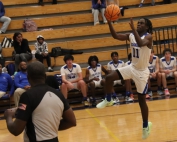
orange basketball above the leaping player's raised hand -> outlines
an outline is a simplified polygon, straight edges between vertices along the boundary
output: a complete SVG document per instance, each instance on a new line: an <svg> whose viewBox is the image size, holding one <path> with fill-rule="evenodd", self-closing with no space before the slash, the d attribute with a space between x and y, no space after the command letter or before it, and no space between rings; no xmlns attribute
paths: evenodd
<svg viewBox="0 0 177 142"><path fill-rule="evenodd" d="M117 5L111 4L106 7L105 17L107 20L116 21L119 19L119 15L120 15L120 8Z"/></svg>

